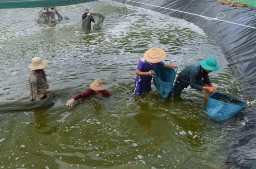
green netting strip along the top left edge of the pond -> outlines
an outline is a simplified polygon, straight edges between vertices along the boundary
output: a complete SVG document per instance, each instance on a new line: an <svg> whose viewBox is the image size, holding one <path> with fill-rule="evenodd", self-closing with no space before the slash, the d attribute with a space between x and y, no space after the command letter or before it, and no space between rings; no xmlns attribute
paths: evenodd
<svg viewBox="0 0 256 169"><path fill-rule="evenodd" d="M66 6L95 0L0 0L0 9Z"/></svg>

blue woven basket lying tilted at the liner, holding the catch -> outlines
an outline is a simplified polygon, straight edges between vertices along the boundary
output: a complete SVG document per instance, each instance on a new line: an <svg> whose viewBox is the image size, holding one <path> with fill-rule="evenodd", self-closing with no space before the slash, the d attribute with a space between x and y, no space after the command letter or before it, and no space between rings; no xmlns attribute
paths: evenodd
<svg viewBox="0 0 256 169"><path fill-rule="evenodd" d="M216 99L223 99L223 98L237 105L232 105L229 103L224 103L219 100L216 100ZM226 120L227 118L236 116L239 112L241 112L246 107L247 107L247 104L245 102L233 99L227 94L221 94L214 91L211 94L211 96L208 97L206 114L209 115L209 117L212 120L221 121L221 120Z"/></svg>

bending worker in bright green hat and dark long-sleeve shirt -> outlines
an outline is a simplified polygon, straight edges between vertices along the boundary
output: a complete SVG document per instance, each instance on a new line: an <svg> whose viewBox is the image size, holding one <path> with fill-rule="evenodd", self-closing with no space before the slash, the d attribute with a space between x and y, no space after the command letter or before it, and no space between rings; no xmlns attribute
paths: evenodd
<svg viewBox="0 0 256 169"><path fill-rule="evenodd" d="M217 92L217 89L210 81L208 73L217 70L219 70L219 65L213 57L200 61L200 63L187 66L178 74L173 94L180 95L181 91L190 85L190 87L197 89L198 91L205 90L205 99L208 100L208 97L213 93L213 91Z"/></svg>

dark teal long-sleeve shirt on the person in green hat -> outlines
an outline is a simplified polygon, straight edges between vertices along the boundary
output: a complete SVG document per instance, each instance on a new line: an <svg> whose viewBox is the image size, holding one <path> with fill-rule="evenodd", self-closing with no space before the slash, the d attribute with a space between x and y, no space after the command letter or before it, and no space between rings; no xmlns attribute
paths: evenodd
<svg viewBox="0 0 256 169"><path fill-rule="evenodd" d="M203 67L201 67L200 63L195 63L183 69L178 74L177 80L184 88L190 85L190 87L202 91L203 86L197 84L202 78L207 84L211 83L208 73L206 71L203 72Z"/></svg>

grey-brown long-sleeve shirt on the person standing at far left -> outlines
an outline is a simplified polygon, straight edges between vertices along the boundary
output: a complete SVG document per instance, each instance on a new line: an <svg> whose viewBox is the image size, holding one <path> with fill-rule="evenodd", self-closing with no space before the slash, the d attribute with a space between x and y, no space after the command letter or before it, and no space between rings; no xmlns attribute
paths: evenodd
<svg viewBox="0 0 256 169"><path fill-rule="evenodd" d="M35 70L32 70L29 75L29 87L31 99L34 101L40 100L46 94L47 88L49 88L46 74L44 73L44 76L40 76Z"/></svg>

